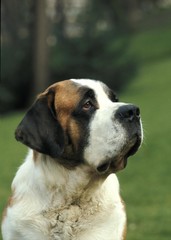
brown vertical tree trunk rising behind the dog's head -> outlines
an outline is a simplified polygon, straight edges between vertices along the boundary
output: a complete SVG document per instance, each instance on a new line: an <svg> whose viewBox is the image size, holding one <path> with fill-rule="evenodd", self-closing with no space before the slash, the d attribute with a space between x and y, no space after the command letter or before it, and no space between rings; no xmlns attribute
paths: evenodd
<svg viewBox="0 0 171 240"><path fill-rule="evenodd" d="M48 86L48 18L46 15L46 0L34 2L34 42L33 42L33 88L31 98Z"/></svg>

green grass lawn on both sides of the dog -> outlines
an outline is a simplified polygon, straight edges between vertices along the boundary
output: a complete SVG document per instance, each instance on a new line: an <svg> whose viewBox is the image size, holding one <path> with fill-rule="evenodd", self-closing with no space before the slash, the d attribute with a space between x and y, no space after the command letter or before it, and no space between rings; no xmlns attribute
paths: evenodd
<svg viewBox="0 0 171 240"><path fill-rule="evenodd" d="M140 106L145 139L140 151L129 159L127 168L118 173L127 206L127 240L171 237L171 58L168 55L171 40L168 39L171 39L168 28L138 33L129 49L138 59L139 71L120 98ZM22 115L15 113L0 119L0 212L27 151L13 135Z"/></svg>

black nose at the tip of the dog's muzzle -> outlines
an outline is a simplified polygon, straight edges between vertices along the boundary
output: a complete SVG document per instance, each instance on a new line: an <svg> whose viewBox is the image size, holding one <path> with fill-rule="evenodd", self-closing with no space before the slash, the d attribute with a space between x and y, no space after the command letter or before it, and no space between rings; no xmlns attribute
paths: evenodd
<svg viewBox="0 0 171 240"><path fill-rule="evenodd" d="M123 105L119 107L116 112L116 116L119 119L127 120L127 121L134 121L140 119L140 109L134 105Z"/></svg>

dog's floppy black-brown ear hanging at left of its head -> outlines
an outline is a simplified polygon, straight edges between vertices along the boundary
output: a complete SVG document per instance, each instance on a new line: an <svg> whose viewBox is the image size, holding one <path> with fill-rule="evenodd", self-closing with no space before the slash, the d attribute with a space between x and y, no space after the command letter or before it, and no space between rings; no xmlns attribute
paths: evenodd
<svg viewBox="0 0 171 240"><path fill-rule="evenodd" d="M54 91L38 97L15 131L17 141L53 158L64 151L64 132L54 109Z"/></svg>

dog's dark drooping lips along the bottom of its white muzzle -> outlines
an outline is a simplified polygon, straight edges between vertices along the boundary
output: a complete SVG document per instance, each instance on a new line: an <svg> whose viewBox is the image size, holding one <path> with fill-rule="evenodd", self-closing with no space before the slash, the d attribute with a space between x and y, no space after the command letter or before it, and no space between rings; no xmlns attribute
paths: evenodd
<svg viewBox="0 0 171 240"><path fill-rule="evenodd" d="M115 173L124 169L127 165L127 160L130 156L134 155L141 145L141 137L136 136L125 147L121 153L115 157L114 160L108 160L97 167L99 174Z"/></svg>

